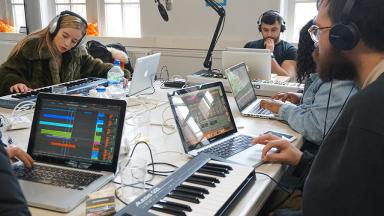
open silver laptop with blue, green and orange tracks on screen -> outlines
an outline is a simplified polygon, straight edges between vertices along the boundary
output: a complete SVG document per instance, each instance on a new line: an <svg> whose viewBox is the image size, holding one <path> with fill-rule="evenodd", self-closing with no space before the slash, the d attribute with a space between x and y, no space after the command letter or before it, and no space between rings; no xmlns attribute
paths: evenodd
<svg viewBox="0 0 384 216"><path fill-rule="evenodd" d="M111 181L125 109L123 100L40 93L28 144L34 167L13 167L28 205L69 212Z"/></svg>

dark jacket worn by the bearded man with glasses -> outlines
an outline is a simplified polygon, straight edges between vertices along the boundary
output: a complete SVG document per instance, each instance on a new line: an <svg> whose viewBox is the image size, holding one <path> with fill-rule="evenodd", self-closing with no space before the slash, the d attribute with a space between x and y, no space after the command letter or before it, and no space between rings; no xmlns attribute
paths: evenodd
<svg viewBox="0 0 384 216"><path fill-rule="evenodd" d="M381 215L384 188L384 74L350 99L309 170L304 215ZM306 167L306 168L305 168Z"/></svg>

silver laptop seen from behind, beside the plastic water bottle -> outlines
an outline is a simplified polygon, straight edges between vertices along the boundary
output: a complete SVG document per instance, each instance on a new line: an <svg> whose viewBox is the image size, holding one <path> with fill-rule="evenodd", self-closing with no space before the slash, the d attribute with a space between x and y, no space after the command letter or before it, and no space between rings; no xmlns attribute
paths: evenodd
<svg viewBox="0 0 384 216"><path fill-rule="evenodd" d="M135 69L130 82L128 95L136 95L144 90L153 88L157 67L160 62L160 53L136 59Z"/></svg>

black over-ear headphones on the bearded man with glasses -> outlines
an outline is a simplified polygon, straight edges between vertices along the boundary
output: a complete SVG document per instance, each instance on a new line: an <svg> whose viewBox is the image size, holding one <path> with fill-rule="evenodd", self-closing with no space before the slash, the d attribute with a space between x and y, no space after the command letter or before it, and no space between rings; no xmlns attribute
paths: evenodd
<svg viewBox="0 0 384 216"><path fill-rule="evenodd" d="M338 50L350 50L360 40L359 28L349 19L355 1L347 0L341 14L341 21L333 25L329 32L329 41Z"/></svg>

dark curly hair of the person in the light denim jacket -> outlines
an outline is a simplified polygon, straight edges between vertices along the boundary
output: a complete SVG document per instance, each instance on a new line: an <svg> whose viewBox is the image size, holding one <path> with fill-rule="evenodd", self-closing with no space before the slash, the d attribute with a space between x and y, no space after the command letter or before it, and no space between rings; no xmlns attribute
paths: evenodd
<svg viewBox="0 0 384 216"><path fill-rule="evenodd" d="M297 49L297 82L302 83L309 74L316 72L316 63L312 58L312 52L315 49L308 28L313 25L311 19L300 30L299 44Z"/></svg>

